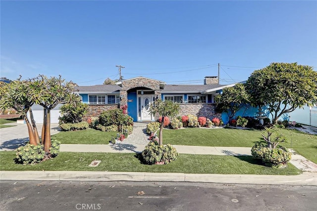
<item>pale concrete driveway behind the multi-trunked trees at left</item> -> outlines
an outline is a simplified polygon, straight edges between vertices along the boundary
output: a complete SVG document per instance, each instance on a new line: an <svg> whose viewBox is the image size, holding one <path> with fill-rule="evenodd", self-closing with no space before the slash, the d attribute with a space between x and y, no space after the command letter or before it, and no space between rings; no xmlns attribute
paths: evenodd
<svg viewBox="0 0 317 211"><path fill-rule="evenodd" d="M14 127L0 128L0 151L11 151L29 141L28 128L25 124L9 123ZM41 135L42 124L36 125ZM51 124L51 135L60 132L58 124Z"/></svg>

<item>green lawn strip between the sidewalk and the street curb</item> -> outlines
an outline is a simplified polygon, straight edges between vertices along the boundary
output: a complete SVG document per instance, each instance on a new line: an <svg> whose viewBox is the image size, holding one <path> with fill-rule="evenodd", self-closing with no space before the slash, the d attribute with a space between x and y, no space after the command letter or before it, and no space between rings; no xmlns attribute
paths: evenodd
<svg viewBox="0 0 317 211"><path fill-rule="evenodd" d="M251 156L189 155L180 154L167 165L144 165L135 153L75 153L60 152L51 160L34 166L14 163L15 152L0 152L0 170L87 170L178 172L218 174L271 174L296 175L301 171L289 164L285 169L264 167ZM88 167L93 160L102 160L98 167Z"/></svg>

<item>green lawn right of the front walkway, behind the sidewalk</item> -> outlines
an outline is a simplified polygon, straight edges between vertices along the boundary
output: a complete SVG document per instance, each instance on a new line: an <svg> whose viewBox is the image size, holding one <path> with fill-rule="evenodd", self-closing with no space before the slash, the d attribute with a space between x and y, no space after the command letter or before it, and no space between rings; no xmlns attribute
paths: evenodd
<svg viewBox="0 0 317 211"><path fill-rule="evenodd" d="M297 130L277 129L289 141L281 145L293 148L299 154L317 164L317 135L310 135ZM165 129L163 144L194 145L194 146L232 146L252 147L255 142L261 141L264 131L252 129Z"/></svg>

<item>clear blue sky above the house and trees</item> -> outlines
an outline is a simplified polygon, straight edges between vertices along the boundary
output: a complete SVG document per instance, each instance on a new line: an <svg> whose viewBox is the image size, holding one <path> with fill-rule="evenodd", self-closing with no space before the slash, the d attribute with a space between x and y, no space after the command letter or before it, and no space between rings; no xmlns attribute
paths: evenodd
<svg viewBox="0 0 317 211"><path fill-rule="evenodd" d="M317 67L317 1L3 1L1 77L79 85L144 76L247 80L271 62ZM162 74L163 73L163 74Z"/></svg>

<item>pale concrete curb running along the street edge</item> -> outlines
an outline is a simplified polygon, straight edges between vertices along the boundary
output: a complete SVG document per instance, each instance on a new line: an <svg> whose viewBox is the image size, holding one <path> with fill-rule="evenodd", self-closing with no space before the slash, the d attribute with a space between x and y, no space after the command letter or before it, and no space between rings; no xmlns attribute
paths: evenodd
<svg viewBox="0 0 317 211"><path fill-rule="evenodd" d="M263 185L314 185L317 173L300 175L191 174L116 171L0 171L0 180L174 181Z"/></svg>

